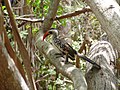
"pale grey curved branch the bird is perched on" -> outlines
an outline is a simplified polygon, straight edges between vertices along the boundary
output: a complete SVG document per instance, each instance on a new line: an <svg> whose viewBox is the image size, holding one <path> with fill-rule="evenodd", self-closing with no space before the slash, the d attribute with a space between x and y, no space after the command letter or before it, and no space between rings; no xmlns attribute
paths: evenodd
<svg viewBox="0 0 120 90"><path fill-rule="evenodd" d="M62 75L73 81L76 90L87 90L87 83L79 68L71 64L64 64L64 58L56 58L57 51L47 42L43 42L41 38L37 39L36 46L52 63Z"/></svg>

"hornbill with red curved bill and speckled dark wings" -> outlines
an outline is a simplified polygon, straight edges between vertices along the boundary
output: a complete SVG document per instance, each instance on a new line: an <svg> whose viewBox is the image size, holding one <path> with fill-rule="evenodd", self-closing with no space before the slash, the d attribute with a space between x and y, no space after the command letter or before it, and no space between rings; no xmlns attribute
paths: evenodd
<svg viewBox="0 0 120 90"><path fill-rule="evenodd" d="M50 29L49 31L47 31L44 36L43 36L43 41L44 39L48 36L48 35L53 35L52 36L52 40L53 40L53 44L59 49L59 51L61 52L61 55L65 55L66 56L66 61L65 63L68 62L68 58L75 60L75 56L79 56L80 58L84 59L85 61L88 61L89 63L93 64L93 66L95 66L96 68L100 69L100 66L95 63L94 61L90 60L89 58L87 58L84 55L81 55L80 53L78 53L76 50L74 50L64 39L60 39L58 36L58 30L56 29Z"/></svg>

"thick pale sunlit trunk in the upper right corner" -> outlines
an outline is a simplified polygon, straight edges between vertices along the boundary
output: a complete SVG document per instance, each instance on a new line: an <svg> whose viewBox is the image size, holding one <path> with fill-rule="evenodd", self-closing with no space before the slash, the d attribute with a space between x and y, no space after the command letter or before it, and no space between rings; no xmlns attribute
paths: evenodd
<svg viewBox="0 0 120 90"><path fill-rule="evenodd" d="M85 0L120 55L120 6L115 0Z"/></svg>

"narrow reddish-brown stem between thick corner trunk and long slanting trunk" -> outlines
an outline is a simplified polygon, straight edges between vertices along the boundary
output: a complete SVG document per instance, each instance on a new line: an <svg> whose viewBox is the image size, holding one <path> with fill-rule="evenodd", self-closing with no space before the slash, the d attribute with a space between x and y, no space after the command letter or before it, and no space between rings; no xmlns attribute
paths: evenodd
<svg viewBox="0 0 120 90"><path fill-rule="evenodd" d="M23 76L24 80L26 81L26 77L25 77L25 72L24 72L24 69L22 67L22 64L19 60L19 58L16 56L14 50L12 49L11 47L11 44L10 44L10 41L9 41L9 38L7 36L7 32L5 30L5 27L4 27L4 17L2 15L2 10L1 10L1 6L0 6L0 30L2 30L4 32L4 44L5 44L5 47L10 55L11 58L13 58L14 62L15 62L15 65L17 66L18 70L20 71L21 75Z"/></svg>

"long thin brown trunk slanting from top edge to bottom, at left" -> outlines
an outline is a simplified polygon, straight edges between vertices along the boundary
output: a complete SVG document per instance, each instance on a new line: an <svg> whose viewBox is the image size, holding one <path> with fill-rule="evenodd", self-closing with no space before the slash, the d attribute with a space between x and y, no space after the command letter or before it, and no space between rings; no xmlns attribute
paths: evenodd
<svg viewBox="0 0 120 90"><path fill-rule="evenodd" d="M8 11L8 15L10 17L10 23L12 26L13 35L17 41L18 49L20 51L20 54L21 54L22 59L23 59L23 63L25 65L25 70L27 73L29 88L30 88L30 90L35 90L36 87L35 87L35 82L34 82L33 77L32 77L30 57L29 57L28 52L27 52L27 50L26 50L26 48L25 48L25 46L20 38L20 35L18 33L18 28L17 28L16 22L14 19L12 8L10 6L10 1L9 0L4 0L4 1L5 1L6 9Z"/></svg>

